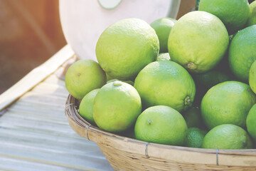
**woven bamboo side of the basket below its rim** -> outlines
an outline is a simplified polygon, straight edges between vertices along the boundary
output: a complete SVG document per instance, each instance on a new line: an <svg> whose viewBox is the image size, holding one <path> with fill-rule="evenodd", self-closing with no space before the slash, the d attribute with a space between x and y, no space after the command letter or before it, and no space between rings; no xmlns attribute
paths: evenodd
<svg viewBox="0 0 256 171"><path fill-rule="evenodd" d="M238 166L223 166L223 165L199 165L199 164L188 164L182 162L172 162L166 160L150 160L144 155L134 156L131 152L124 152L120 150L114 150L113 148L107 147L100 143L97 143L102 150L103 154L110 162L110 165L114 170L254 170L255 167L238 167Z"/></svg>

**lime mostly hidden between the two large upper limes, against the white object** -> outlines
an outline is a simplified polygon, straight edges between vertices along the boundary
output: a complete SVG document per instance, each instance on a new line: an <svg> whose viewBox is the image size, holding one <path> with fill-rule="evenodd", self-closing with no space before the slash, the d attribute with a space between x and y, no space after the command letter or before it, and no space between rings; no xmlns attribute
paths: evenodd
<svg viewBox="0 0 256 171"><path fill-rule="evenodd" d="M171 28L176 23L176 19L162 18L153 21L150 26L156 31L159 38L160 53L168 52L168 38Z"/></svg>

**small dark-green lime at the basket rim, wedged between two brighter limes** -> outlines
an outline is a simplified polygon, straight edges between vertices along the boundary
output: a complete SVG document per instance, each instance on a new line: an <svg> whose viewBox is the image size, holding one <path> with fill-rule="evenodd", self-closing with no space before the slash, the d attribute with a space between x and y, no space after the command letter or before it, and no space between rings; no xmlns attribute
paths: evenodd
<svg viewBox="0 0 256 171"><path fill-rule="evenodd" d="M201 130L200 128L188 128L188 136L186 137L185 146L200 148L206 133L206 130Z"/></svg>

